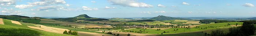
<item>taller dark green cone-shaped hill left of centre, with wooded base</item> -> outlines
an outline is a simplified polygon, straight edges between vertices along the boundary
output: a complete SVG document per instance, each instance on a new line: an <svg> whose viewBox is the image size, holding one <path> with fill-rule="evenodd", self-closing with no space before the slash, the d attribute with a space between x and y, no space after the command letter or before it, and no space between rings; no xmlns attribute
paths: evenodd
<svg viewBox="0 0 256 36"><path fill-rule="evenodd" d="M101 21L101 20L108 20L108 19L94 18L94 17L90 17L86 14L83 14L83 15L79 15L79 16L75 16L75 17L69 17L69 18L54 18L53 20L75 22L77 20Z"/></svg>

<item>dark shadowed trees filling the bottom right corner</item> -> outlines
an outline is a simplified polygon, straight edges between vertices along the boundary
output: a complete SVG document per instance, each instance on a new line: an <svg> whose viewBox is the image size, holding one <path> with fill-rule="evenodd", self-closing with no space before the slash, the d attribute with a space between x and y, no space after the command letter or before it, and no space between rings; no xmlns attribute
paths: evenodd
<svg viewBox="0 0 256 36"><path fill-rule="evenodd" d="M240 27L229 28L228 33L224 33L223 30L217 29L211 31L211 36L251 36L255 34L254 23L256 21L242 21L244 22Z"/></svg>

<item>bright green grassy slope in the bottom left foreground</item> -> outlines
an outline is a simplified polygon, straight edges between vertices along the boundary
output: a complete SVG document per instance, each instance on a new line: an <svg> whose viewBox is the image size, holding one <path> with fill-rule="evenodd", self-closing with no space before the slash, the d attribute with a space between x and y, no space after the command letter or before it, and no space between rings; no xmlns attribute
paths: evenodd
<svg viewBox="0 0 256 36"><path fill-rule="evenodd" d="M3 21L4 25L0 25L0 36L74 36L31 29L27 26L33 26L33 24L29 23L21 22L22 25L17 25L7 19Z"/></svg>

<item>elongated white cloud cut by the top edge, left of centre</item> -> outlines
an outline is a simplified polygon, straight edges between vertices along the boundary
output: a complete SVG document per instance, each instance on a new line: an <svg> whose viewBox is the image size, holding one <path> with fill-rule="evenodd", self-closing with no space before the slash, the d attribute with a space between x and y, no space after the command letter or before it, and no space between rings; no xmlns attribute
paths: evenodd
<svg viewBox="0 0 256 36"><path fill-rule="evenodd" d="M52 5L52 4L66 4L64 0L40 0L37 2L28 2L29 5Z"/></svg>

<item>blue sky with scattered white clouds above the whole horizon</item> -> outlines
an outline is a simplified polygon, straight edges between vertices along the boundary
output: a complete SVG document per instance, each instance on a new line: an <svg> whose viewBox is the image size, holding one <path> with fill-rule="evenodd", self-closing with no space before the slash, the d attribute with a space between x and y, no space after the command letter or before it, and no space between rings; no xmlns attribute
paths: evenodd
<svg viewBox="0 0 256 36"><path fill-rule="evenodd" d="M256 0L0 0L0 15L29 17L256 17Z"/></svg>

